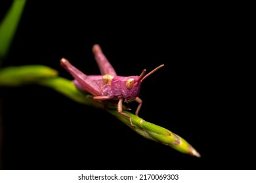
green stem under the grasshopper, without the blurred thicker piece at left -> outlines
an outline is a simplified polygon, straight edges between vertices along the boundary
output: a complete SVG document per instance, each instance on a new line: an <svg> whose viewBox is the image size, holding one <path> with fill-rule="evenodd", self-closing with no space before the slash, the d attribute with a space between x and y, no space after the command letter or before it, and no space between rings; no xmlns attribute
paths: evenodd
<svg viewBox="0 0 256 183"><path fill-rule="evenodd" d="M192 156L200 157L200 154L179 135L176 135L168 129L165 129L158 125L146 122L142 118L139 118L139 116L135 116L135 114L132 114L127 110L123 110L123 112L131 116L134 124L134 126L131 126L129 119L117 112L117 105L113 105L113 103L110 103L108 101L100 103L93 100L91 94L79 92L79 90L75 88L74 84L70 82L70 80L61 77L47 78L45 80L41 80L39 84L53 88L57 92L60 92L79 103L90 105L96 108L102 108L107 112L110 112L110 114L121 120L121 122L126 124L128 127L133 129L133 131L139 133L146 139L160 142L161 144L165 144L167 146L171 146L175 150L178 150L179 152L182 152L184 154L190 154Z"/></svg>

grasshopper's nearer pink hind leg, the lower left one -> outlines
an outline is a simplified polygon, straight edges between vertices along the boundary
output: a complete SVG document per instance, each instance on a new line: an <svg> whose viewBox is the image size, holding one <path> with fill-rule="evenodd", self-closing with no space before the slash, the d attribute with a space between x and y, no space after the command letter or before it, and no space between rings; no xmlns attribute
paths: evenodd
<svg viewBox="0 0 256 183"><path fill-rule="evenodd" d="M60 65L75 78L75 80L80 84L81 88L95 96L102 95L100 87L96 84L96 82L75 68L67 59L62 58L60 60Z"/></svg>

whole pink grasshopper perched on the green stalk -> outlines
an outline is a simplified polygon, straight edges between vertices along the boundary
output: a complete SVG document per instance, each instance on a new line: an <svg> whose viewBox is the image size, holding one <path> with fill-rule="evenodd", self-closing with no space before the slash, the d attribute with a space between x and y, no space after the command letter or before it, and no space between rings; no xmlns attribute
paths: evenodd
<svg viewBox="0 0 256 183"><path fill-rule="evenodd" d="M96 101L103 101L114 99L118 100L117 112L129 118L131 125L133 122L131 116L123 112L123 99L126 103L137 101L139 103L135 115L138 116L139 110L142 105L142 100L138 97L140 92L140 85L142 81L148 76L152 75L155 71L163 67L160 65L152 70L146 76L146 69L142 71L140 76L117 76L116 71L104 56L100 46L95 44L93 46L93 54L100 69L101 75L87 76L75 68L67 59L62 58L60 65L64 67L75 80L73 81L78 90L82 92L89 92L94 95L93 99Z"/></svg>

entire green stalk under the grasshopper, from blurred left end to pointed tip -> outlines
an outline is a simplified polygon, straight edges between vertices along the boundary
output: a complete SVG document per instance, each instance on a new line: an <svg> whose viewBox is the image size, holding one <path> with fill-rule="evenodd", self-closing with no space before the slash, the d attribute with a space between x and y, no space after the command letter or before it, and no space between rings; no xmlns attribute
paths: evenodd
<svg viewBox="0 0 256 183"><path fill-rule="evenodd" d="M133 121L134 126L131 126L129 118L117 112L116 103L112 103L111 101L95 101L91 94L80 92L75 88L72 81L67 80L66 78L56 77L56 73L55 70L43 65L7 67L0 70L0 86L20 86L22 84L36 83L41 86L52 88L56 92L62 93L78 103L102 108L107 112L110 112L110 114L121 120L121 122L146 139L171 146L184 154L200 157L200 154L188 142L182 139L182 137L179 137L179 135L176 135L159 125L146 122L139 116L135 116L135 114L125 110L126 108L124 107L123 112L129 114Z"/></svg>

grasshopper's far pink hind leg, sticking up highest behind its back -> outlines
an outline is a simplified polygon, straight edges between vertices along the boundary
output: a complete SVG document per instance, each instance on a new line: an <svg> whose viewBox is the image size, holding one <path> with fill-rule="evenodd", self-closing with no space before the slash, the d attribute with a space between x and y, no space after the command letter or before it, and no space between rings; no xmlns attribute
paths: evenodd
<svg viewBox="0 0 256 183"><path fill-rule="evenodd" d="M100 46L95 44L93 46L93 54L95 55L96 62L98 64L98 68L100 69L101 75L113 75L116 76L116 71L104 56Z"/></svg>

